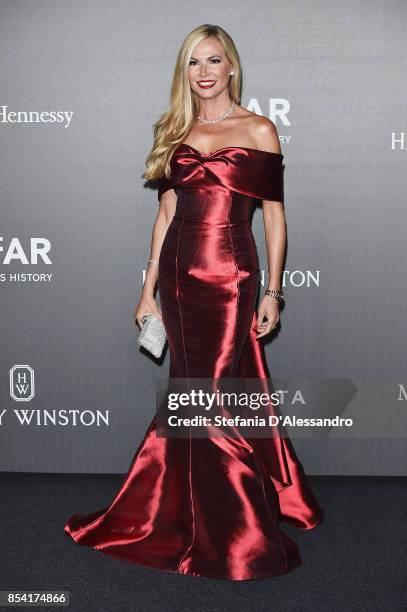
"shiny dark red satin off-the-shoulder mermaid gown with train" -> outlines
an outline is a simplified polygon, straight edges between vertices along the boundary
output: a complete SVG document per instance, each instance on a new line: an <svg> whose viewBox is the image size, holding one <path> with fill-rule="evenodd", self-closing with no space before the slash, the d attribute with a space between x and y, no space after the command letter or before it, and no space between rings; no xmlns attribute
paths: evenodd
<svg viewBox="0 0 407 612"><path fill-rule="evenodd" d="M159 260L170 377L269 378L256 340L260 282L251 212L283 201L283 155L181 144L162 178L177 194ZM132 563L228 580L301 563L284 520L312 529L323 511L288 438L164 438L156 417L111 504L75 514L75 542Z"/></svg>

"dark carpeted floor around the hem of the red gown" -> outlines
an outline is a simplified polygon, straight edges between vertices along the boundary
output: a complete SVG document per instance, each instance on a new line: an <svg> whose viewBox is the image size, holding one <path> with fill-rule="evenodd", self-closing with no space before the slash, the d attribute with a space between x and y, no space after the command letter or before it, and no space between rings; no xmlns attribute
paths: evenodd
<svg viewBox="0 0 407 612"><path fill-rule="evenodd" d="M406 478L309 477L324 523L284 524L303 564L244 582L160 572L70 540L69 516L104 507L122 478L0 474L0 591L69 591L72 612L407 610Z"/></svg>

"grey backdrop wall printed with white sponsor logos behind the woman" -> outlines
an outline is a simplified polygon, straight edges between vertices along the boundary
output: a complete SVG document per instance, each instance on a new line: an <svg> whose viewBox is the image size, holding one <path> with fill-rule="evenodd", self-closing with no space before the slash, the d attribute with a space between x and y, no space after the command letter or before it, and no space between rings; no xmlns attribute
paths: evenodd
<svg viewBox="0 0 407 612"><path fill-rule="evenodd" d="M124 472L154 416L169 353L133 319L158 212L141 175L180 45L212 23L284 154L282 410L346 421L294 446L309 474L406 474L407 5L248 10L0 0L0 470ZM262 290L260 206L253 233Z"/></svg>

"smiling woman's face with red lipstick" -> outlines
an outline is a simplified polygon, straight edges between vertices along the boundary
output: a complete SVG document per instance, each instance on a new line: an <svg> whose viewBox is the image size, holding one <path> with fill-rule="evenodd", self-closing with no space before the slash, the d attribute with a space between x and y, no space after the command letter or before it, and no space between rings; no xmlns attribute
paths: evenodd
<svg viewBox="0 0 407 612"><path fill-rule="evenodd" d="M215 98L228 85L231 63L217 38L201 40L192 50L188 66L191 89L201 98Z"/></svg>

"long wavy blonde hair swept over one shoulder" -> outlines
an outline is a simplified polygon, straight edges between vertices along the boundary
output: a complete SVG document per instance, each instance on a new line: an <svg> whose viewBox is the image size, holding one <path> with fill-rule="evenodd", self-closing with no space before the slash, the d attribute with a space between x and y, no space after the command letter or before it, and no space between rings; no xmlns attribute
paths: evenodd
<svg viewBox="0 0 407 612"><path fill-rule="evenodd" d="M154 124L154 144L146 159L146 170L142 175L147 180L170 177L170 161L173 152L190 131L199 112L199 97L192 91L188 80L188 66L194 47L204 38L217 38L232 64L234 75L229 79L229 96L240 103L241 65L232 38L216 25L200 25L188 34L178 52L171 86L168 110Z"/></svg>

